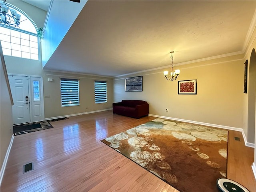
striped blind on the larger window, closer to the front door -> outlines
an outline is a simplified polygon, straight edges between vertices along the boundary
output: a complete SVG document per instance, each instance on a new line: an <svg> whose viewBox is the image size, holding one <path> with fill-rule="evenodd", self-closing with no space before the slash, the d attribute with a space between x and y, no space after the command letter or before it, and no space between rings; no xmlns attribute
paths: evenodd
<svg viewBox="0 0 256 192"><path fill-rule="evenodd" d="M79 105L79 82L77 79L60 79L61 106Z"/></svg>

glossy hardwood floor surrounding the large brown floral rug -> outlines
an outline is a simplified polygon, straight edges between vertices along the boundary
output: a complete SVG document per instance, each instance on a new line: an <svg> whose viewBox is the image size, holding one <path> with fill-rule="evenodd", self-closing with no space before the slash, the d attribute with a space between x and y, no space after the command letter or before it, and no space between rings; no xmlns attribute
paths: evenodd
<svg viewBox="0 0 256 192"><path fill-rule="evenodd" d="M178 192L100 141L154 118L98 112L51 122L54 128L15 136L0 190ZM235 136L240 141L234 140ZM229 130L228 137L227 177L256 192L251 168L254 149L244 145L240 132ZM22 166L29 162L34 170L23 174Z"/></svg>

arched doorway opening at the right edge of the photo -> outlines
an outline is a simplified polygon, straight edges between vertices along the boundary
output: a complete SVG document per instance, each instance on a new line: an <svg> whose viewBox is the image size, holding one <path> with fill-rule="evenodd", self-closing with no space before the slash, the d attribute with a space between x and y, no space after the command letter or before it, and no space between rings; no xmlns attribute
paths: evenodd
<svg viewBox="0 0 256 192"><path fill-rule="evenodd" d="M252 50L249 64L248 83L248 130L247 141L254 143L255 140L255 108L256 108L256 53Z"/></svg>

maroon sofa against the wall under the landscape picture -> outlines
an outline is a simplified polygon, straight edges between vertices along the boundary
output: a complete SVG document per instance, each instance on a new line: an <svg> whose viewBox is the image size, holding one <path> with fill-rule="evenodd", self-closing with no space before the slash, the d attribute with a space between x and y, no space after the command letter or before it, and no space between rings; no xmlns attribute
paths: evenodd
<svg viewBox="0 0 256 192"><path fill-rule="evenodd" d="M148 116L148 103L142 100L122 100L113 103L113 113L138 119Z"/></svg>

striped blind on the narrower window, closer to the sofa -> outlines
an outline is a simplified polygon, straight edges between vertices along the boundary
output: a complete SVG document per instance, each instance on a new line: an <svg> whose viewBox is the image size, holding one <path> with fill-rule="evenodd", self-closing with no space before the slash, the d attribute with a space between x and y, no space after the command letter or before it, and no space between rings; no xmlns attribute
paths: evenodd
<svg viewBox="0 0 256 192"><path fill-rule="evenodd" d="M94 82L95 103L107 102L107 82L95 81Z"/></svg>

